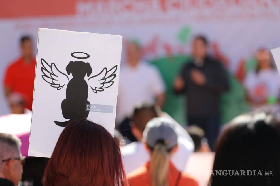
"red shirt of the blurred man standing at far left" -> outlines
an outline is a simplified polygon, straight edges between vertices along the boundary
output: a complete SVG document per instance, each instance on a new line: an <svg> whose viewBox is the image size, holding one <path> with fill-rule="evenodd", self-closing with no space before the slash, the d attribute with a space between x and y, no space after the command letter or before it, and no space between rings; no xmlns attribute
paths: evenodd
<svg viewBox="0 0 280 186"><path fill-rule="evenodd" d="M4 86L10 88L12 92L21 93L26 102L25 107L29 110L32 109L35 65L35 59L25 63L20 58L7 68L4 77Z"/></svg>

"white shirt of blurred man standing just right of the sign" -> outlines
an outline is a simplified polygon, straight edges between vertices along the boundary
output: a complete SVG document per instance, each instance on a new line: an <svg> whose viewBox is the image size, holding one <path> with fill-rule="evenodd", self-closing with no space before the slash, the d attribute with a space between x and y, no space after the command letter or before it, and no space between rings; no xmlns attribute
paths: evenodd
<svg viewBox="0 0 280 186"><path fill-rule="evenodd" d="M140 61L136 67L120 69L116 123L131 117L134 107L141 102L154 103L155 97L165 92L165 85L156 67Z"/></svg>

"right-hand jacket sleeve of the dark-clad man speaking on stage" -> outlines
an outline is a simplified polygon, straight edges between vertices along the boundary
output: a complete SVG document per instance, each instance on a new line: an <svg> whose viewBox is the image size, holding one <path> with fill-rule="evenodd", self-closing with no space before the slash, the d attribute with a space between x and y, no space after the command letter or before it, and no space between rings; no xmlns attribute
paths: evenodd
<svg viewBox="0 0 280 186"><path fill-rule="evenodd" d="M227 71L219 61L216 61L215 64L215 73L213 75L206 75L205 87L219 93L230 89Z"/></svg>

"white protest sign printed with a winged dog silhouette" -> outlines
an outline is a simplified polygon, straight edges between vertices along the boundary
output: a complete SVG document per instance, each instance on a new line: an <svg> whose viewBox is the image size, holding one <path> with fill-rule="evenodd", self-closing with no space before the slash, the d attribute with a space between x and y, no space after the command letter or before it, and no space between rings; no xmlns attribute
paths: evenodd
<svg viewBox="0 0 280 186"><path fill-rule="evenodd" d="M29 156L50 157L67 123L115 127L122 36L40 28Z"/></svg>

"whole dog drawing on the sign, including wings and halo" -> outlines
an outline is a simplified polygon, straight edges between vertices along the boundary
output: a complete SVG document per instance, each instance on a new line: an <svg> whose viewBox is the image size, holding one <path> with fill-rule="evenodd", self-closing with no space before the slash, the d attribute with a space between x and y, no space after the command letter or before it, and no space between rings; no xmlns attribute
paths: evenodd
<svg viewBox="0 0 280 186"><path fill-rule="evenodd" d="M76 54L86 55L84 57L77 56ZM89 54L85 52L73 52L71 56L77 59L88 59ZM41 58L41 71L42 78L45 82L49 83L51 87L57 90L62 89L66 84L66 98L61 102L61 111L65 119L68 121L60 122L54 121L54 123L60 127L65 127L69 122L76 119L86 119L89 111L86 110L86 104L90 104L88 101L88 87L96 94L97 92L103 92L106 88L111 87L114 84L116 78L116 71L118 65L113 66L111 69L104 67L100 73L93 75L84 80L85 76L88 77L92 73L92 68L89 63L83 61L70 61L66 67L68 75L72 73L73 78L69 80L69 77L61 72L55 65L50 65ZM87 78L86 78L87 79Z"/></svg>

